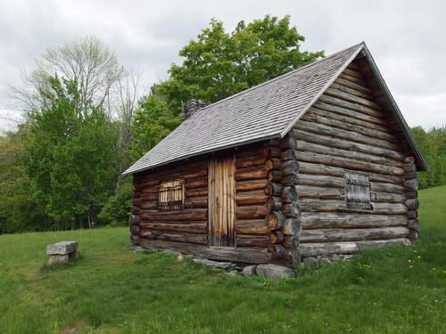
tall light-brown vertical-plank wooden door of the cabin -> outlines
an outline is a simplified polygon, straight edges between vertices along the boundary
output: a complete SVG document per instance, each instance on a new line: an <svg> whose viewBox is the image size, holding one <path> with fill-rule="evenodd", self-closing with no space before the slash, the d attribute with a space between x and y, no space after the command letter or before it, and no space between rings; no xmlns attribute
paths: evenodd
<svg viewBox="0 0 446 334"><path fill-rule="evenodd" d="M209 245L235 247L235 157L222 154L209 163Z"/></svg>

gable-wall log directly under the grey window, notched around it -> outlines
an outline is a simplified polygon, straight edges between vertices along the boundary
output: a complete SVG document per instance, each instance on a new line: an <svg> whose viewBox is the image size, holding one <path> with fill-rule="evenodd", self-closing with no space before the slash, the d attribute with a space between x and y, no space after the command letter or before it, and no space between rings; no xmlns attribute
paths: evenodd
<svg viewBox="0 0 446 334"><path fill-rule="evenodd" d="M342 200L297 200L297 203L302 212L368 212L365 209L347 208L346 203ZM401 215L408 212L406 205L401 203L372 203L372 207L370 212L376 215Z"/></svg>

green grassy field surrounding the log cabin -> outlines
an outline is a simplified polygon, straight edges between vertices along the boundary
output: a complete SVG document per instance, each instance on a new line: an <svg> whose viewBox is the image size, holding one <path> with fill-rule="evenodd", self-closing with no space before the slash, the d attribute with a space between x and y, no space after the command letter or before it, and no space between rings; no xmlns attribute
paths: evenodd
<svg viewBox="0 0 446 334"><path fill-rule="evenodd" d="M444 333L446 187L420 191L421 239L284 281L128 250L126 228L0 236L0 333ZM45 246L81 258L45 268Z"/></svg>

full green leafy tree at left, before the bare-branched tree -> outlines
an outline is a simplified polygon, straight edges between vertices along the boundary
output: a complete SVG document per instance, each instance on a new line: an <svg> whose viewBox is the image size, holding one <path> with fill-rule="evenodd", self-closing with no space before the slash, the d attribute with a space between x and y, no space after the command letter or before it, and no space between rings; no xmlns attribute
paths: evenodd
<svg viewBox="0 0 446 334"><path fill-rule="evenodd" d="M103 109L79 100L76 82L49 78L48 107L31 113L23 163L29 191L55 228L91 226L112 191L114 136Z"/></svg>

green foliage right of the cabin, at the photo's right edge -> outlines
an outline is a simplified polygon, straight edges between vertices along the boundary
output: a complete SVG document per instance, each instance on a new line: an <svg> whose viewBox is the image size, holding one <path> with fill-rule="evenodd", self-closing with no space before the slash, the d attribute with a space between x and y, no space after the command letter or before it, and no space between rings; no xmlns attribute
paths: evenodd
<svg viewBox="0 0 446 334"><path fill-rule="evenodd" d="M435 187L446 184L446 126L433 127L425 131L421 126L413 127L418 145L430 170L418 173L421 188Z"/></svg>

